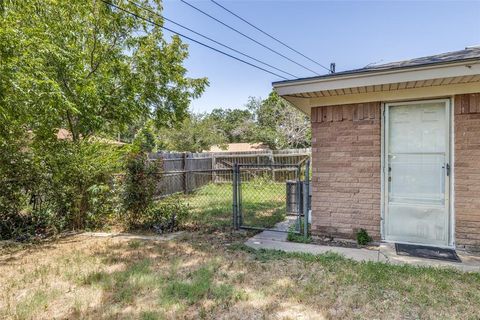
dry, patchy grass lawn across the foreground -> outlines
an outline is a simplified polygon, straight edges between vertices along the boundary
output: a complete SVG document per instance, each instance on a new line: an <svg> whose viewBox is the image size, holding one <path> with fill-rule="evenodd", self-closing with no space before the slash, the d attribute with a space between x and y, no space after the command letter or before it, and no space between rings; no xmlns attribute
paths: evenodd
<svg viewBox="0 0 480 320"><path fill-rule="evenodd" d="M5 319L478 319L480 276L245 248L72 236L3 249Z"/></svg>

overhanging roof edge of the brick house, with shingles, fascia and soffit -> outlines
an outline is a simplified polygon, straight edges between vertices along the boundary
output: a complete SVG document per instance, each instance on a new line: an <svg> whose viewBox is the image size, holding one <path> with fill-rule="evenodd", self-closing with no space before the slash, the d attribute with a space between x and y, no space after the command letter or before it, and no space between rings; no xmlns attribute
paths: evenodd
<svg viewBox="0 0 480 320"><path fill-rule="evenodd" d="M480 91L480 46L361 69L273 83L310 114L316 106L448 97Z"/></svg>

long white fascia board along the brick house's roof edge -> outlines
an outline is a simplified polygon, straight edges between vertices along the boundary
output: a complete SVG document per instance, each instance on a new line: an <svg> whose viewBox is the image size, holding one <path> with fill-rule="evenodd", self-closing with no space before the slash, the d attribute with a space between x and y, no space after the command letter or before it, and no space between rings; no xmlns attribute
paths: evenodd
<svg viewBox="0 0 480 320"><path fill-rule="evenodd" d="M472 76L480 74L480 61L457 62L406 68L396 70L382 70L378 72L340 75L320 79L306 79L291 83L276 83L273 85L279 95L293 95L306 92L356 88L408 81L422 81L429 79Z"/></svg>

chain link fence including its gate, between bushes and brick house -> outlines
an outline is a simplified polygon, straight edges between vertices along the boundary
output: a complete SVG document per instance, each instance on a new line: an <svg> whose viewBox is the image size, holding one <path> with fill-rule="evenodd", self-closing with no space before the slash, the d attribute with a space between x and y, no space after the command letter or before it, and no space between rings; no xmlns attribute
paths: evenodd
<svg viewBox="0 0 480 320"><path fill-rule="evenodd" d="M189 207L190 229L241 227L300 233L300 179L305 168L305 163L243 164L232 169L166 172L158 177L155 198L180 196L179 201Z"/></svg>

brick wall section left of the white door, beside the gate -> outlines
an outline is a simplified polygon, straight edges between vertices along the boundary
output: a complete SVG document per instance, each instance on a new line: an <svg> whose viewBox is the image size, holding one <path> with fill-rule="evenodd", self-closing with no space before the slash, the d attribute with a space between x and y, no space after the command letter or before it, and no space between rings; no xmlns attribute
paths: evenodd
<svg viewBox="0 0 480 320"><path fill-rule="evenodd" d="M380 102L312 109L312 233L380 239Z"/></svg>

